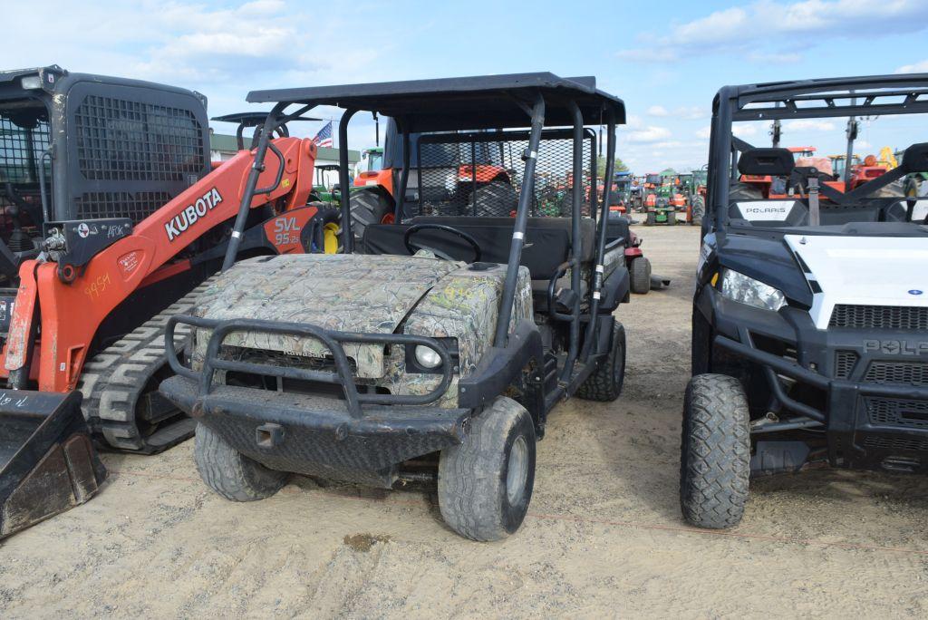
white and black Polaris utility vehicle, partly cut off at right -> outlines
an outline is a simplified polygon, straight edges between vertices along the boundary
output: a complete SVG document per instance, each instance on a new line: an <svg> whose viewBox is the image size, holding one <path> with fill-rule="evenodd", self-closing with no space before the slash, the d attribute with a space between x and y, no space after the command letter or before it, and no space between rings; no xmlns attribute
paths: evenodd
<svg viewBox="0 0 928 620"><path fill-rule="evenodd" d="M926 113L928 74L715 97L680 467L690 523L739 523L751 476L813 461L928 472ZM737 137L771 122L770 148ZM896 157L856 157L861 126ZM780 148L803 130L817 150ZM846 155L814 157L831 150ZM857 163L832 174L836 161Z"/></svg>

